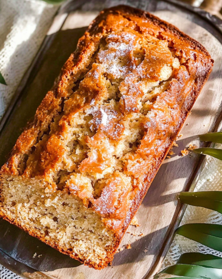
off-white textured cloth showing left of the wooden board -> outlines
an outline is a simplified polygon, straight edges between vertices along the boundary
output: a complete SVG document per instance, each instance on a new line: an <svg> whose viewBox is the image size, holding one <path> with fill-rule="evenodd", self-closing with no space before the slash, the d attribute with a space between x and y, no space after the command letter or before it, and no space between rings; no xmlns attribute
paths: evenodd
<svg viewBox="0 0 222 279"><path fill-rule="evenodd" d="M28 69L58 6L41 0L0 0L0 118ZM0 279L21 278L0 265Z"/></svg>

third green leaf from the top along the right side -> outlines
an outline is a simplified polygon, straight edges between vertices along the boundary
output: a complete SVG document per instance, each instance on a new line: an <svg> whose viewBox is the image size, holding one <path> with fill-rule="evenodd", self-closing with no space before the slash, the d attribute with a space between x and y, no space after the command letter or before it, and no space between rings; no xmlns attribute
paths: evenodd
<svg viewBox="0 0 222 279"><path fill-rule="evenodd" d="M181 192L178 199L184 204L204 207L222 213L222 191Z"/></svg>

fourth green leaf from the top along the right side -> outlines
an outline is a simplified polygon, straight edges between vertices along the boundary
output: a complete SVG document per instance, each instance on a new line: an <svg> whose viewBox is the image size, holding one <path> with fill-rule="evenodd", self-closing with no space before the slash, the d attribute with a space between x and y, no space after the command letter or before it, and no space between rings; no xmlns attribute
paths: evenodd
<svg viewBox="0 0 222 279"><path fill-rule="evenodd" d="M222 225L186 224L179 227L176 233L222 252Z"/></svg>

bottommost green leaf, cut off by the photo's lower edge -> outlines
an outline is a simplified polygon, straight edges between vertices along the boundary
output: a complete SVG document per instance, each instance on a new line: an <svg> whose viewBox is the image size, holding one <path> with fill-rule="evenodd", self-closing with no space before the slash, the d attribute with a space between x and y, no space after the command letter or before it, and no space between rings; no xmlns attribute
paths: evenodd
<svg viewBox="0 0 222 279"><path fill-rule="evenodd" d="M165 268L160 273L201 279L222 279L222 269L192 264L174 264Z"/></svg>

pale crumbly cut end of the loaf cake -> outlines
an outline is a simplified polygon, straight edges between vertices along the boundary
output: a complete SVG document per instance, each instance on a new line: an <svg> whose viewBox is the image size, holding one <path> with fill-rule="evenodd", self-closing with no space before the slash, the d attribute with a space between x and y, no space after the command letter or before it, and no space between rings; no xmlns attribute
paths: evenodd
<svg viewBox="0 0 222 279"><path fill-rule="evenodd" d="M115 241L101 216L67 192L45 189L34 178L4 176L0 215L71 258L97 269L106 266Z"/></svg>

